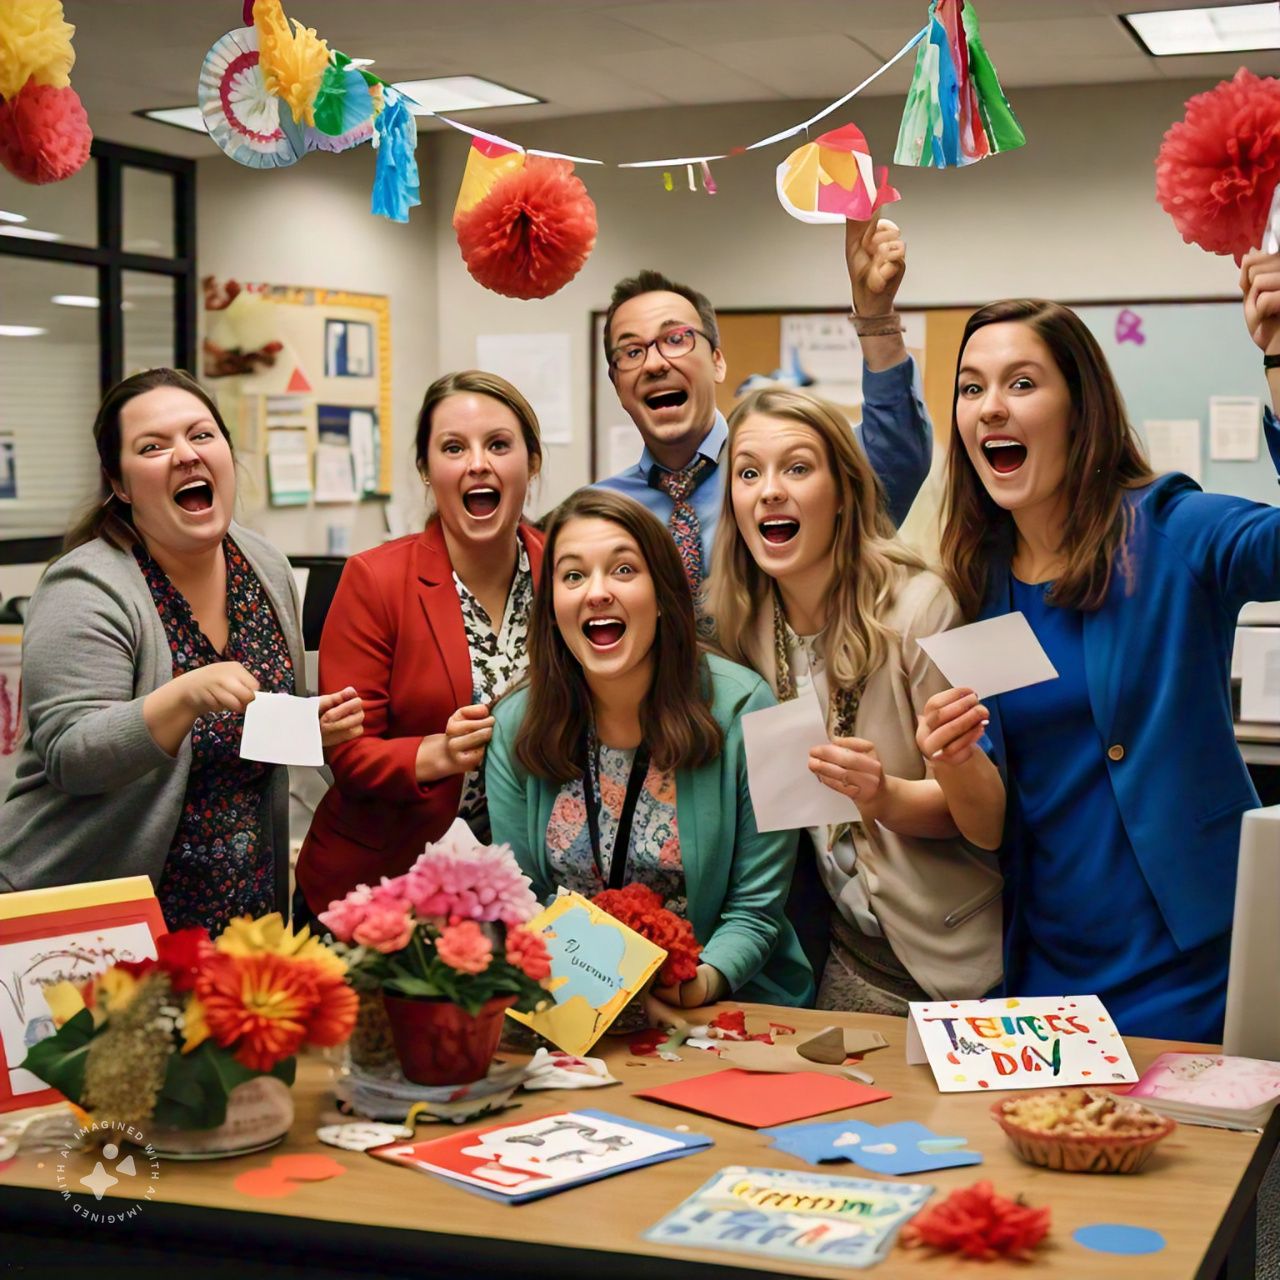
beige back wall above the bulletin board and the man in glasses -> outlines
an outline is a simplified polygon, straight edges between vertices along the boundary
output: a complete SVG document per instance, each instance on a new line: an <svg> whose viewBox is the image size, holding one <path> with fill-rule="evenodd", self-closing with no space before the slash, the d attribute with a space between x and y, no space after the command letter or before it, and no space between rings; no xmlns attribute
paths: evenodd
<svg viewBox="0 0 1280 1280"><path fill-rule="evenodd" d="M1018 90L1014 108L1028 145L961 170L893 166L902 193L892 215L909 239L901 301L973 303L1038 293L1064 301L1220 296L1235 284L1230 260L1185 246L1153 197L1155 155L1185 99L1207 83ZM901 99L865 99L829 118L855 120L881 164L890 161ZM751 142L817 106L742 105L576 118L518 128L525 146L609 160L696 155ZM425 141L425 140L424 140ZM613 283L643 266L703 289L719 307L831 306L849 302L838 228L808 227L783 212L773 172L782 143L713 165L718 195L675 191L660 170L580 165L600 212L595 251L552 298L517 302L480 289L466 274L449 228L468 140L431 134L430 183L439 238L439 365L470 365L480 333L573 335L575 444L548 451L535 506L553 506L588 479L589 323ZM1243 339L1242 339L1243 340ZM730 378L733 352L728 351ZM1258 394L1265 387L1258 387ZM620 411L620 421L621 411ZM639 436L636 451L639 453Z"/></svg>

